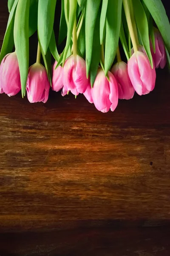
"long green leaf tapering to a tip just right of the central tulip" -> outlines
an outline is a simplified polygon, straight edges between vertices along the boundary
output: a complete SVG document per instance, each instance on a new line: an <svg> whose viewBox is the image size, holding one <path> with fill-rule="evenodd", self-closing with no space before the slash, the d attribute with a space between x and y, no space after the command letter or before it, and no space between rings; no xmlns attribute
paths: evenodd
<svg viewBox="0 0 170 256"><path fill-rule="evenodd" d="M87 0L85 13L85 53L86 53L86 74L88 77L91 55L93 48L93 35L96 23L96 17L99 10L101 0Z"/></svg>

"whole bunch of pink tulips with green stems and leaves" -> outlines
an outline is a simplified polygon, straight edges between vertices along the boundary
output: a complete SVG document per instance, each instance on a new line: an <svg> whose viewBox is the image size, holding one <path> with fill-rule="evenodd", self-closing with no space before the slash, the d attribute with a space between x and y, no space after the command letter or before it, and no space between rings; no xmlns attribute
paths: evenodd
<svg viewBox="0 0 170 256"><path fill-rule="evenodd" d="M51 87L62 96L83 93L99 111L114 111L118 99L152 91L155 69L170 65L170 23L161 0L8 0L8 10L0 52L0 93L8 96L21 90L29 102L45 103ZM37 60L29 67L34 33Z"/></svg>

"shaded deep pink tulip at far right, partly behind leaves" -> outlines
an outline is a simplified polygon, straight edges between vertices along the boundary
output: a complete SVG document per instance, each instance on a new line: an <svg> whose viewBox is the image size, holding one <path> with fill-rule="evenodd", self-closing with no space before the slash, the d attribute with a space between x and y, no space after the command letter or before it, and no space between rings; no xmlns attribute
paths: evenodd
<svg viewBox="0 0 170 256"><path fill-rule="evenodd" d="M152 53L153 61L156 68L158 67L164 68L167 61L164 41L161 37L161 33L159 32L159 30L155 30L154 35L155 35L155 53L153 52L153 45L150 40L150 50Z"/></svg>

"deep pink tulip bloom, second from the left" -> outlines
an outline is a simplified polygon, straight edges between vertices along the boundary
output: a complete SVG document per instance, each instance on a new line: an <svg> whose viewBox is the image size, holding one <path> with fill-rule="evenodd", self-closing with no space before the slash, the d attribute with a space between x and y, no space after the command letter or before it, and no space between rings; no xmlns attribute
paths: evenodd
<svg viewBox="0 0 170 256"><path fill-rule="evenodd" d="M46 102L48 100L48 94L50 89L50 83L45 67L42 64L35 63L29 68L27 79L27 97L29 102Z"/></svg>

